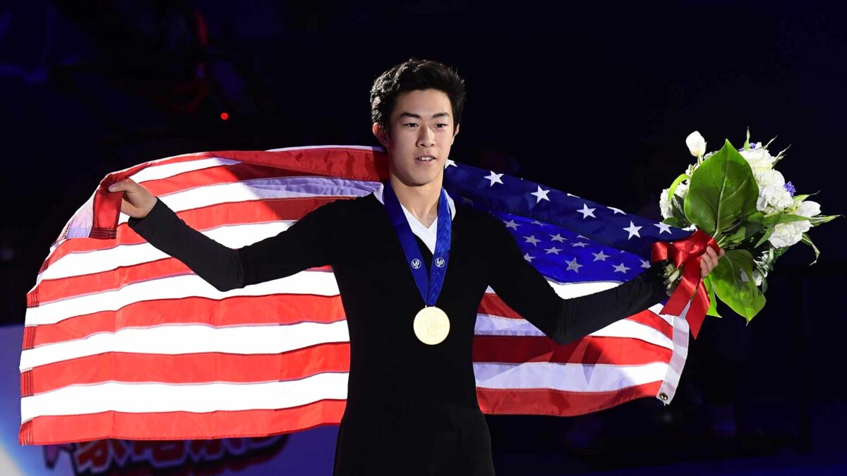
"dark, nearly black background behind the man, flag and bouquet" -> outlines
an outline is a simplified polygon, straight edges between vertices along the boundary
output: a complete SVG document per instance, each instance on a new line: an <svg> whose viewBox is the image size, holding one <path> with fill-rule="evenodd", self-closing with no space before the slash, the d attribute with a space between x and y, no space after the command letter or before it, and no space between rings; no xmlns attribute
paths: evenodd
<svg viewBox="0 0 847 476"><path fill-rule="evenodd" d="M709 150L777 136L847 210L844 8L814 2L18 1L0 6L0 321L108 172L185 152L377 145L368 91L407 58L468 86L451 158L659 217ZM229 119L221 119L221 113ZM578 418L489 417L498 474L844 471L847 219L798 244L766 308L709 318L678 394ZM665 465L653 468L656 465Z"/></svg>

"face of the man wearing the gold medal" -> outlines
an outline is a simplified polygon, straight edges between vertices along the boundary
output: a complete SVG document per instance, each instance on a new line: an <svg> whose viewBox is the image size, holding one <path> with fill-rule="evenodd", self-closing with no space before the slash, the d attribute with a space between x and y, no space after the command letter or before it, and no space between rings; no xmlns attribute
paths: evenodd
<svg viewBox="0 0 847 476"><path fill-rule="evenodd" d="M374 135L385 147L391 172L406 185L424 185L440 178L454 132L450 98L442 91L408 91L397 97L389 118L389 134L374 124Z"/></svg>

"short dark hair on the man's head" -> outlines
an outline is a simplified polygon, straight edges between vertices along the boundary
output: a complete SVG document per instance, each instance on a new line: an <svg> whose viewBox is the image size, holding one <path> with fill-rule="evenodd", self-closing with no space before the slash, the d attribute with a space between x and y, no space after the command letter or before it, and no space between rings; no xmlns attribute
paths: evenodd
<svg viewBox="0 0 847 476"><path fill-rule="evenodd" d="M427 59L411 58L379 75L371 87L371 121L389 130L389 119L397 97L404 92L424 89L444 92L450 98L455 130L462 120L465 81L455 70Z"/></svg>

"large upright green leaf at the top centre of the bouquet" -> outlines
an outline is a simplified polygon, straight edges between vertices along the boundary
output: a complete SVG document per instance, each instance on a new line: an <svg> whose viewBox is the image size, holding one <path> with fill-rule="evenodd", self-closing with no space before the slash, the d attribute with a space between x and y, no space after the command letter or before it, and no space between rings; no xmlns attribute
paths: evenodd
<svg viewBox="0 0 847 476"><path fill-rule="evenodd" d="M750 165L729 141L691 175L685 217L707 235L722 234L756 212L759 187Z"/></svg>

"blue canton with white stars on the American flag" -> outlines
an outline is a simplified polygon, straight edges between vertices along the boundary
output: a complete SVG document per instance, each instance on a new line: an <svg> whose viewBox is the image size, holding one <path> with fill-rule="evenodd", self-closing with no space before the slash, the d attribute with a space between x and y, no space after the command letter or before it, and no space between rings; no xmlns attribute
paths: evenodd
<svg viewBox="0 0 847 476"><path fill-rule="evenodd" d="M501 219L523 258L559 282L631 280L650 268L654 241L694 232L449 159L444 187L454 201Z"/></svg>

